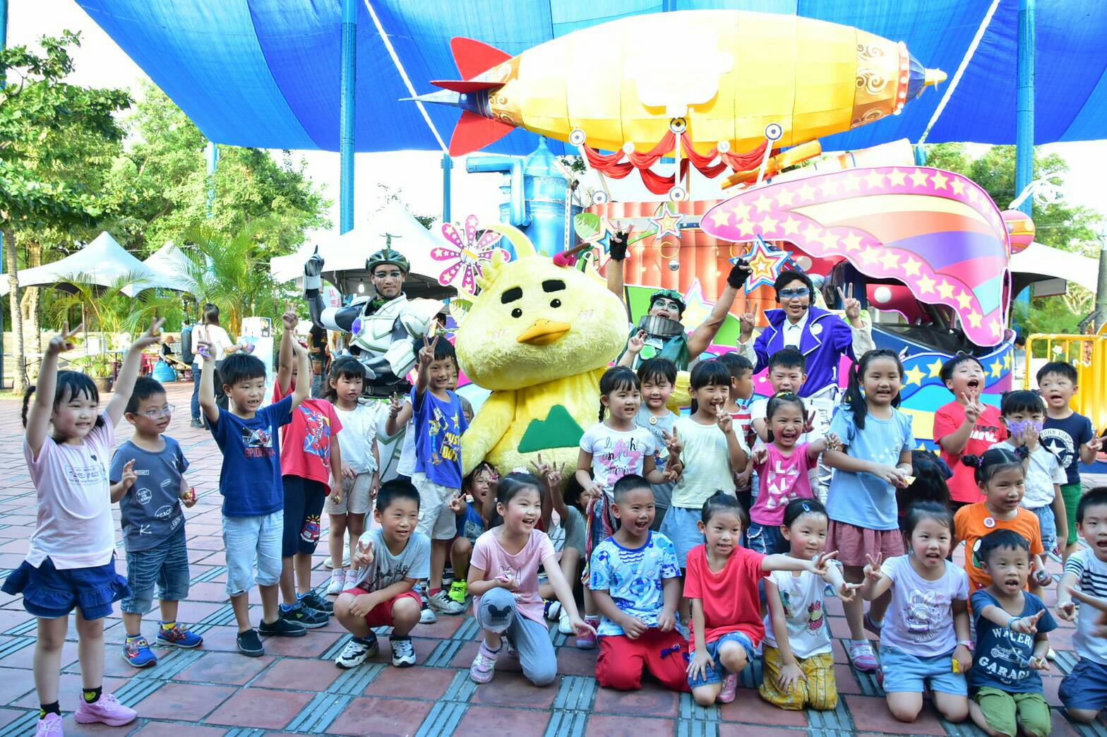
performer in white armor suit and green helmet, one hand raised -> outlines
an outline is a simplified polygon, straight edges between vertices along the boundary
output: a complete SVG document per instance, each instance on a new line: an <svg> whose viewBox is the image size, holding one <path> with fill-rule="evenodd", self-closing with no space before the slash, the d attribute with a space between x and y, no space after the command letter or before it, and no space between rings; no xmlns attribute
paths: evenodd
<svg viewBox="0 0 1107 737"><path fill-rule="evenodd" d="M410 267L403 253L383 248L365 261L375 297L360 297L341 308L323 303L323 258L315 253L303 266L303 292L311 311L311 322L327 330L350 333L350 352L368 372L366 391L373 396L406 394L411 384L405 376L415 366L435 315L443 303L437 300L408 300L403 292Z"/></svg>

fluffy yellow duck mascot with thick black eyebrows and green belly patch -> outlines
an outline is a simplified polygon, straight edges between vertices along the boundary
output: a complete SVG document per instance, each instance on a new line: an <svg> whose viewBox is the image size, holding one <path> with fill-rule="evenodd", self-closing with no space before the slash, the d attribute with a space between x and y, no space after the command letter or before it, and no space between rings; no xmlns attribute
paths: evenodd
<svg viewBox="0 0 1107 737"><path fill-rule="evenodd" d="M467 475L544 461L572 477L580 434L599 418L600 376L623 350L627 311L599 274L562 268L517 228L489 226L515 246L484 267L476 297L455 299L457 360L492 395L462 436ZM571 419L570 419L571 418ZM520 444L523 449L520 450Z"/></svg>

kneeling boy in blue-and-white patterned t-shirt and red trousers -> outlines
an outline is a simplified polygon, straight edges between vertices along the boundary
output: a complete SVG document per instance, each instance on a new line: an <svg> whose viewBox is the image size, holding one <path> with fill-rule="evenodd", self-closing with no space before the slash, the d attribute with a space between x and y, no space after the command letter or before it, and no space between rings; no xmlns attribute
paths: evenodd
<svg viewBox="0 0 1107 737"><path fill-rule="evenodd" d="M638 691L649 671L664 686L689 691L687 641L675 630L681 569L669 538L652 532L650 482L623 476L612 512L621 525L592 551L589 589L603 619L596 678L606 688Z"/></svg>

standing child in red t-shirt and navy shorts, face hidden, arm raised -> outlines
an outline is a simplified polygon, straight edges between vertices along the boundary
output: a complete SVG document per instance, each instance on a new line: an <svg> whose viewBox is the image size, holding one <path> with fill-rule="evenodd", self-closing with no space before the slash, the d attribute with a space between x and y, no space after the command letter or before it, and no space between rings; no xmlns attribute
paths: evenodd
<svg viewBox="0 0 1107 737"><path fill-rule="evenodd" d="M284 334L280 339L273 403L296 388L298 372L292 331L298 318L291 310L281 315ZM303 376L309 376L304 373ZM280 588L283 602L280 619L309 630L327 625L334 611L311 587L311 557L319 544L320 518L327 497L342 498L342 451L334 436L342 422L327 399L306 398L292 412L292 422L281 429L280 467L284 487L284 521L281 536ZM341 558L338 561L342 562ZM340 568L340 567L335 567Z"/></svg>

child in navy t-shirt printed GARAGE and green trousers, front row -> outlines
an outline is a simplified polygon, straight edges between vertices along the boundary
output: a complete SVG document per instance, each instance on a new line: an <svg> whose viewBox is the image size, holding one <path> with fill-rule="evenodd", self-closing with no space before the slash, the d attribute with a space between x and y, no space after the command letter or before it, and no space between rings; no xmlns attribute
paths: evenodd
<svg viewBox="0 0 1107 737"><path fill-rule="evenodd" d="M1057 623L1041 599L1024 591L1030 546L1013 530L993 530L981 539L980 561L991 582L972 594L976 660L969 671L969 713L989 735L1013 737L1022 729L1045 737L1052 724L1038 671L1049 668L1046 633Z"/></svg>

